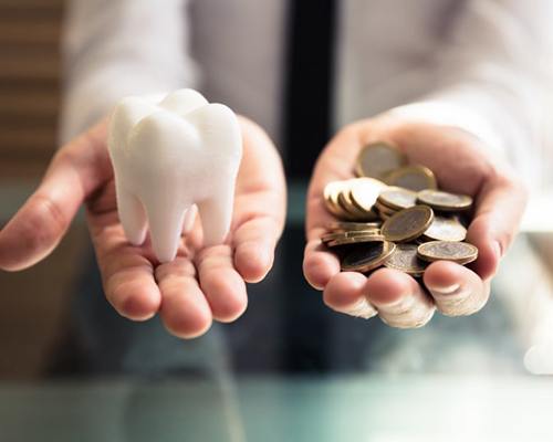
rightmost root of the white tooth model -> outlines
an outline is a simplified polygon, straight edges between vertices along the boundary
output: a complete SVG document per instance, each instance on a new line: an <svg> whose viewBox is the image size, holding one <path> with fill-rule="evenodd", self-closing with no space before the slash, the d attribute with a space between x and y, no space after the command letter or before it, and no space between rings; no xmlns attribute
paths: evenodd
<svg viewBox="0 0 553 442"><path fill-rule="evenodd" d="M204 245L221 244L230 230L233 186L198 203L204 231Z"/></svg>

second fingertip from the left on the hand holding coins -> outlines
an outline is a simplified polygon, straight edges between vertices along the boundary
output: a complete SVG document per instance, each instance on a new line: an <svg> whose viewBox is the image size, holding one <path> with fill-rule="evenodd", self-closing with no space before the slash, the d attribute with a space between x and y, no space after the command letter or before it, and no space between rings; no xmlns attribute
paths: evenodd
<svg viewBox="0 0 553 442"><path fill-rule="evenodd" d="M365 281L366 277L361 273L338 273L324 288L324 303L332 309L349 316L372 318L377 312L364 295Z"/></svg>

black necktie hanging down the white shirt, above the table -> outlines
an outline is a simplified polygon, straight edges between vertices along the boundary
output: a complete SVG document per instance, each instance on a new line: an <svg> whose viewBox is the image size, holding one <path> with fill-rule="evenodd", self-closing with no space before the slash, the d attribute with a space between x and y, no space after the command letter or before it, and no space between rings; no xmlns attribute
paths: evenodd
<svg viewBox="0 0 553 442"><path fill-rule="evenodd" d="M335 0L290 0L283 115L286 172L310 176L332 130Z"/></svg>

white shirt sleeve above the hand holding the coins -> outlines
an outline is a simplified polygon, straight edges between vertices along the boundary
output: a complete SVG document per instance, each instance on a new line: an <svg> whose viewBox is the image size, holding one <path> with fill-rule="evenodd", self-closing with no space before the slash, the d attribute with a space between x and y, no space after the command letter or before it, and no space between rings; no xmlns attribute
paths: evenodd
<svg viewBox="0 0 553 442"><path fill-rule="evenodd" d="M436 92L393 114L463 128L535 183L551 80L553 2L469 0L438 55Z"/></svg>

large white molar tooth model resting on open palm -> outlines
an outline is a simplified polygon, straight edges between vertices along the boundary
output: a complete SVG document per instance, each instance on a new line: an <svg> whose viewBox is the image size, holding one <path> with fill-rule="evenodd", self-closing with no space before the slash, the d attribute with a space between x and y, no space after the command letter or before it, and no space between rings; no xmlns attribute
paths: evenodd
<svg viewBox="0 0 553 442"><path fill-rule="evenodd" d="M232 217L234 183L242 157L237 116L192 90L159 101L124 98L108 129L119 220L139 245L147 227L160 262L176 256L180 234L197 204L205 245L225 241Z"/></svg>

